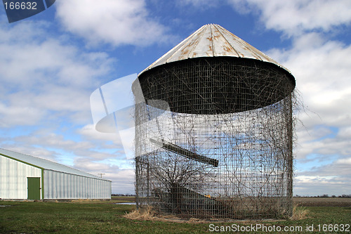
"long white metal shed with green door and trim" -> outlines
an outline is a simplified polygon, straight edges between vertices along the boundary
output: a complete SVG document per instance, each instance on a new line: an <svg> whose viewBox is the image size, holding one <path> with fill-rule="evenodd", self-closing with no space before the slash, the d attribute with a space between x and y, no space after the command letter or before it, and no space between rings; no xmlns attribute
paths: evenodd
<svg viewBox="0 0 351 234"><path fill-rule="evenodd" d="M0 199L111 199L111 181L0 149Z"/></svg>

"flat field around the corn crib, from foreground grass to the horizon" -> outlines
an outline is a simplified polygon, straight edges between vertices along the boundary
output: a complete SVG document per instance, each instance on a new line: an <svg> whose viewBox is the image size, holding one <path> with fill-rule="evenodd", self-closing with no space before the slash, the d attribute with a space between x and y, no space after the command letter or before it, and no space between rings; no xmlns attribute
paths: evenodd
<svg viewBox="0 0 351 234"><path fill-rule="evenodd" d="M220 233L350 233L351 230L351 198L296 198L294 203L308 210L306 218L300 220L226 222L131 220L124 214L132 212L135 205L116 202L133 202L133 197L112 197L110 201L0 201L0 233L216 233L216 230L227 230ZM235 228L245 230L235 231Z"/></svg>

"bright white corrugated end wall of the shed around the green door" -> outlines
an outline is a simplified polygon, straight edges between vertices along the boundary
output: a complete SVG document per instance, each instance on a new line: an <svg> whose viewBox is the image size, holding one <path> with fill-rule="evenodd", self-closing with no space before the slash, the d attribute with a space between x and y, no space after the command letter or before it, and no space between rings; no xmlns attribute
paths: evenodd
<svg viewBox="0 0 351 234"><path fill-rule="evenodd" d="M27 199L27 177L41 178L41 169L0 155L0 198Z"/></svg>

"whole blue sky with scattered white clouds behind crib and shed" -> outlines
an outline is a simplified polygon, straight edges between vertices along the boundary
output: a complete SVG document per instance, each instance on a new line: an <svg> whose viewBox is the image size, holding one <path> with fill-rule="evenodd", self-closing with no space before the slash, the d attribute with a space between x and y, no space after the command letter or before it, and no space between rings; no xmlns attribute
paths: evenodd
<svg viewBox="0 0 351 234"><path fill-rule="evenodd" d="M121 139L93 127L89 96L216 23L289 68L305 110L294 195L351 194L350 0L57 0L8 23L0 7L0 148L134 193Z"/></svg>

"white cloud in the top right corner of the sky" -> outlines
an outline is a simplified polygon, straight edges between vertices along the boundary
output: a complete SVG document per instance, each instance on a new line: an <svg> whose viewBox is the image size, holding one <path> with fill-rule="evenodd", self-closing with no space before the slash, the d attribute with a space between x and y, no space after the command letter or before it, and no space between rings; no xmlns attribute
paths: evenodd
<svg viewBox="0 0 351 234"><path fill-rule="evenodd" d="M260 12L260 20L270 30L291 36L306 30L329 32L334 26L350 24L349 0L227 0L240 13Z"/></svg>

